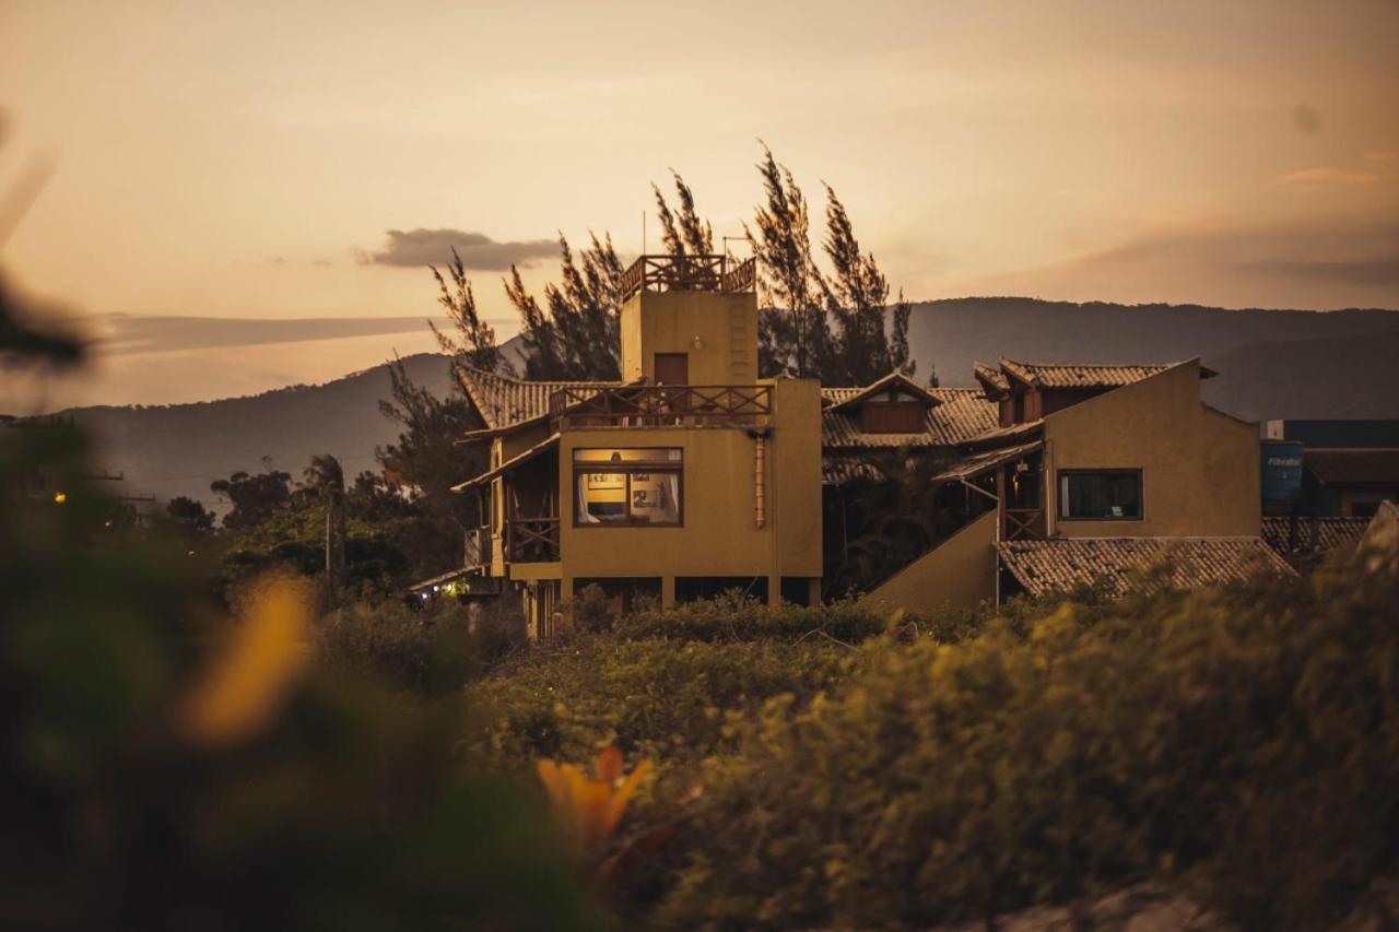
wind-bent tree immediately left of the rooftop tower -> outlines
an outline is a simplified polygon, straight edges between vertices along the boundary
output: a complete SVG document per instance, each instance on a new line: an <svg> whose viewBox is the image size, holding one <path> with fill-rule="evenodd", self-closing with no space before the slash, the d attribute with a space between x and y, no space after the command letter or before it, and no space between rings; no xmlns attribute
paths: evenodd
<svg viewBox="0 0 1399 932"><path fill-rule="evenodd" d="M520 315L525 378L588 381L621 378L621 277L611 235L589 234L575 259L560 234L560 281L544 288L544 306L511 266L505 297Z"/></svg>

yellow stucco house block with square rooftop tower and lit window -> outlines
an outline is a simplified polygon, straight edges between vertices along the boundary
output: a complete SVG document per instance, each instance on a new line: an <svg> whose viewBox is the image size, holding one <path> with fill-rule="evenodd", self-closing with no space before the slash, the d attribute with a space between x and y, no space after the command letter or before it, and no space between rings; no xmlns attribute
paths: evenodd
<svg viewBox="0 0 1399 932"><path fill-rule="evenodd" d="M467 564L516 586L532 631L599 585L618 607L737 588L818 598L821 393L760 379L753 263L645 256L621 308L623 381L466 371L491 469Z"/></svg>

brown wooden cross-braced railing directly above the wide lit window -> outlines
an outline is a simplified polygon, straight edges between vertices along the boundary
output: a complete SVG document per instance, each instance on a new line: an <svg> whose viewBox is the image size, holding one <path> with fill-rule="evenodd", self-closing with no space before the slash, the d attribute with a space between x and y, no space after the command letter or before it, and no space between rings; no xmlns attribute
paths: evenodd
<svg viewBox="0 0 1399 932"><path fill-rule="evenodd" d="M557 430L586 427L734 427L772 414L768 385L623 385L564 388L548 397Z"/></svg>

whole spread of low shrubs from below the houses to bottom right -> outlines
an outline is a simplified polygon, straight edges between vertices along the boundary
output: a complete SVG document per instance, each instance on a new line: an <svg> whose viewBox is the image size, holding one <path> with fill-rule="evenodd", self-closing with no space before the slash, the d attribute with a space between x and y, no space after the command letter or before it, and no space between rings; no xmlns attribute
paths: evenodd
<svg viewBox="0 0 1399 932"><path fill-rule="evenodd" d="M676 827L614 890L645 925L929 928L1154 880L1325 928L1399 866L1392 567L933 619L646 612L474 683L467 746L512 775L656 761L635 820Z"/></svg>

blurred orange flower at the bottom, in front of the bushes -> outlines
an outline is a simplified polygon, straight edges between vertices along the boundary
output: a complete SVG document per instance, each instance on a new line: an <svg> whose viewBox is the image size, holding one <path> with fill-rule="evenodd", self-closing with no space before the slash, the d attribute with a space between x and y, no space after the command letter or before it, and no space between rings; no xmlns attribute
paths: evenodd
<svg viewBox="0 0 1399 932"><path fill-rule="evenodd" d="M548 758L539 760L536 765L560 821L581 851L590 856L600 856L607 848L627 803L651 772L651 761L644 760L631 774L624 775L621 751L611 744L597 754L596 778L572 764L558 764Z"/></svg>

